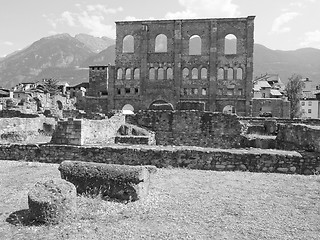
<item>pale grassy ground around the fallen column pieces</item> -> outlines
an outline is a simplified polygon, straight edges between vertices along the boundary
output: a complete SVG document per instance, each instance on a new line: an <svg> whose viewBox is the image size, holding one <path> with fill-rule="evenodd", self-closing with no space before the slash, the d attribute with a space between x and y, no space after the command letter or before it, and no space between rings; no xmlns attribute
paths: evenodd
<svg viewBox="0 0 320 240"><path fill-rule="evenodd" d="M0 161L0 239L320 239L320 176L159 169L148 198L78 197L56 226L8 222L58 165Z"/></svg>

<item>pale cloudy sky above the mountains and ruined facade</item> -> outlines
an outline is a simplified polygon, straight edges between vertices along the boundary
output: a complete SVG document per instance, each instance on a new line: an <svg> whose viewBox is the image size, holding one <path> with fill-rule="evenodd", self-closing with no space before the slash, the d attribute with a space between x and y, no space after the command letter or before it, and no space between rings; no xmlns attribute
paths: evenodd
<svg viewBox="0 0 320 240"><path fill-rule="evenodd" d="M255 43L320 49L319 0L0 0L0 57L58 33L115 38L115 21L255 18Z"/></svg>

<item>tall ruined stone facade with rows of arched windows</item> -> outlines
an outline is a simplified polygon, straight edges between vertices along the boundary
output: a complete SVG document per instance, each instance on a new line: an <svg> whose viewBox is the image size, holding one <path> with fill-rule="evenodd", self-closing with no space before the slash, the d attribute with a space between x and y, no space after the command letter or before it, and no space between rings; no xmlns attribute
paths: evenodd
<svg viewBox="0 0 320 240"><path fill-rule="evenodd" d="M148 109L163 100L176 109L180 101L201 101L207 110L232 106L238 115L249 115L253 29L253 16L117 22L110 107Z"/></svg>

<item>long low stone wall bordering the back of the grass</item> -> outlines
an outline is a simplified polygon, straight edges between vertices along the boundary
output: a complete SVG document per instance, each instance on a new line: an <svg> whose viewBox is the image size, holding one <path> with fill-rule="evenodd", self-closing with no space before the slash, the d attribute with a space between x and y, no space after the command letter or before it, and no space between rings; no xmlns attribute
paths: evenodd
<svg viewBox="0 0 320 240"><path fill-rule="evenodd" d="M109 164L186 167L217 171L314 174L320 154L263 149L205 149L200 147L66 145L0 145L0 159L60 163L64 160Z"/></svg>

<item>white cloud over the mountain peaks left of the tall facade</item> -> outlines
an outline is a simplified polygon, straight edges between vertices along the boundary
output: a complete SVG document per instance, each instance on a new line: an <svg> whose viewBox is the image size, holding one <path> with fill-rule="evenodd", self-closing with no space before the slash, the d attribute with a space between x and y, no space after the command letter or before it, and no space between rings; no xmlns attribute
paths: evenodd
<svg viewBox="0 0 320 240"><path fill-rule="evenodd" d="M60 16L43 15L49 24L55 29L51 32L56 32L56 29L61 24L67 24L69 27L83 27L88 30L88 33L94 36L115 37L115 27L106 24L106 17L110 14L116 14L123 11L122 7L108 8L106 5L81 5L75 4L76 12L64 11Z"/></svg>

